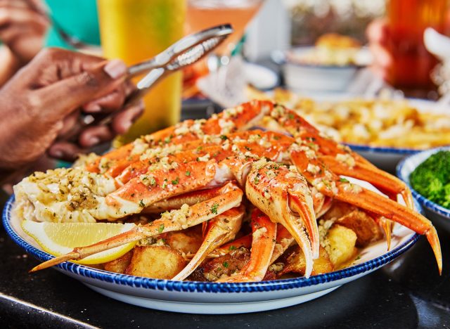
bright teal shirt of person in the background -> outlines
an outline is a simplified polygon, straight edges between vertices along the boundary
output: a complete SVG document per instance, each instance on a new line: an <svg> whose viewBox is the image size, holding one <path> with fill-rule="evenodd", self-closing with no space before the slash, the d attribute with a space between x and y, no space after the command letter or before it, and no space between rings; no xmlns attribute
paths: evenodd
<svg viewBox="0 0 450 329"><path fill-rule="evenodd" d="M46 0L46 4L53 19L66 33L86 44L100 45L96 0ZM72 49L53 27L47 32L45 45Z"/></svg>

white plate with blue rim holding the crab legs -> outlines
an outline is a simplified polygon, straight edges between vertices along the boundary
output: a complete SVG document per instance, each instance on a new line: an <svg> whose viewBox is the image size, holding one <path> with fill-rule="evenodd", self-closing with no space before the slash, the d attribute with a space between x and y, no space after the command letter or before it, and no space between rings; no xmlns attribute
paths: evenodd
<svg viewBox="0 0 450 329"><path fill-rule="evenodd" d="M53 258L20 232L18 219L11 216L14 198L6 202L3 223L9 236L41 261ZM420 209L420 205L416 205ZM396 225L392 250L380 241L361 251L360 258L347 269L310 278L262 281L255 283L206 283L158 280L128 276L64 262L55 268L101 294L129 304L193 314L238 314L280 309L321 297L336 288L365 276L399 257L416 243L419 235ZM25 273L24 273L25 275Z"/></svg>

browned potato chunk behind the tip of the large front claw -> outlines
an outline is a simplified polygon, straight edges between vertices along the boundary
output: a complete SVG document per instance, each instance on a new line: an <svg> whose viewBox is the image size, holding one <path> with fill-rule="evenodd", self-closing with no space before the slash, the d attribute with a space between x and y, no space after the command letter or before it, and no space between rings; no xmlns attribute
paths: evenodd
<svg viewBox="0 0 450 329"><path fill-rule="evenodd" d="M304 271L306 269L304 254L298 245L291 248L292 249L288 250L288 252L285 253L285 266L278 273L278 276L282 276L283 274L292 272L300 273L302 276L304 276ZM311 275L315 276L321 273L328 273L333 271L333 269L334 266L333 263L330 262L328 252L326 252L325 248L320 247L319 258L314 259L314 265Z"/></svg>

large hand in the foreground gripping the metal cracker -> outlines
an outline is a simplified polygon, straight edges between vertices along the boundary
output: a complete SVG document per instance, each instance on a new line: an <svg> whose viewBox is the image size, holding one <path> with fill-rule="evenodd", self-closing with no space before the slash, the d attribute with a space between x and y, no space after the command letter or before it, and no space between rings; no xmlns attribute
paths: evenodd
<svg viewBox="0 0 450 329"><path fill-rule="evenodd" d="M48 150L74 160L82 148L123 134L141 114L135 105L108 126L88 127L77 144L58 140L77 124L80 112L91 115L122 108L133 86L126 65L63 49L44 49L0 91L0 167L17 169ZM58 140L58 141L57 141Z"/></svg>

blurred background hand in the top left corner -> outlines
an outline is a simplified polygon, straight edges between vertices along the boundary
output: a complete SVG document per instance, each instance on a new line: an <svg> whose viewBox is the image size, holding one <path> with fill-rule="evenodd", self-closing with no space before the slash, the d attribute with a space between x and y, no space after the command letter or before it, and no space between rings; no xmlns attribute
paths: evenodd
<svg viewBox="0 0 450 329"><path fill-rule="evenodd" d="M0 0L0 40L21 65L42 49L49 20L39 0Z"/></svg>

